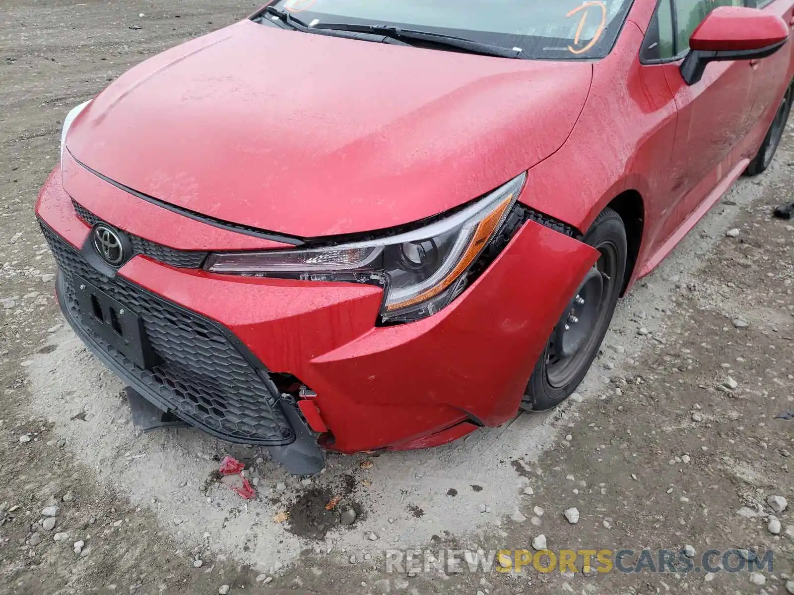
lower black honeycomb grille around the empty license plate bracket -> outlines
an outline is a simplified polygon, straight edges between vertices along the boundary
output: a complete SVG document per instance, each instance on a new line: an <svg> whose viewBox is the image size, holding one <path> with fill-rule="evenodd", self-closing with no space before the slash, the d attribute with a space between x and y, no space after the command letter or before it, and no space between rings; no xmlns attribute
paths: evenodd
<svg viewBox="0 0 794 595"><path fill-rule="evenodd" d="M227 330L122 278L106 278L50 228L42 224L41 229L63 275L64 313L137 390L225 440L264 445L294 440L294 430L277 403L275 385L235 347ZM135 366L84 324L75 300L75 275L141 317L160 364L148 370Z"/></svg>

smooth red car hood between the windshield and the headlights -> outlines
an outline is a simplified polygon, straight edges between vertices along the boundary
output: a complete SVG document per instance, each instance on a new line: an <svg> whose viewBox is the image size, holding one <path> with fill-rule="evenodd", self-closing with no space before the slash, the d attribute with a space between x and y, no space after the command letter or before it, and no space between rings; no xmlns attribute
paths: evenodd
<svg viewBox="0 0 794 595"><path fill-rule="evenodd" d="M67 148L211 217L312 237L468 202L569 136L592 66L473 56L242 21L102 91Z"/></svg>

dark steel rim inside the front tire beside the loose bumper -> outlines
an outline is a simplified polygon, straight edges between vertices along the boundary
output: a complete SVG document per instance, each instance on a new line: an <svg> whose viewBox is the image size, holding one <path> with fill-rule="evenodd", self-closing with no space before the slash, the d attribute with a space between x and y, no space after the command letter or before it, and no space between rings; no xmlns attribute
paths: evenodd
<svg viewBox="0 0 794 595"><path fill-rule="evenodd" d="M603 320L609 311L618 270L618 248L607 241L596 249L601 253L598 261L588 271L574 298L566 306L546 344L546 380L554 388L569 384L580 374L582 366L589 366L587 355L593 343L599 339ZM598 275L600 285L595 282L594 274ZM584 304L577 298L584 299ZM576 322L572 321L572 317L576 318ZM565 328L566 325L569 328ZM568 333L572 333L572 336L566 337ZM570 340L568 344L566 339ZM572 354L566 352L570 344L578 345Z"/></svg>

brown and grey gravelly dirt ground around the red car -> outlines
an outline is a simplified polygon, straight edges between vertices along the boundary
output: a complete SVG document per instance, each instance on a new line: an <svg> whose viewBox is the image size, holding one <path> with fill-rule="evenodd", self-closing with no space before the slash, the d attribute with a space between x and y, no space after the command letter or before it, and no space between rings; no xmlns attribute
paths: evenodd
<svg viewBox="0 0 794 595"><path fill-rule="evenodd" d="M794 221L770 213L794 200L791 132L769 171L738 182L622 300L579 393L552 413L431 451L332 455L314 478L199 432L133 428L123 385L60 317L37 190L68 109L255 9L2 2L0 593L786 593L794 419L776 416L794 410ZM255 501L214 478L226 454L246 463ZM792 504L774 512L769 496ZM41 514L53 505L54 523ZM357 518L341 524L348 509ZM531 550L540 534L553 551L691 545L696 562L769 550L773 569L388 573L384 562L392 548L430 562L444 548Z"/></svg>

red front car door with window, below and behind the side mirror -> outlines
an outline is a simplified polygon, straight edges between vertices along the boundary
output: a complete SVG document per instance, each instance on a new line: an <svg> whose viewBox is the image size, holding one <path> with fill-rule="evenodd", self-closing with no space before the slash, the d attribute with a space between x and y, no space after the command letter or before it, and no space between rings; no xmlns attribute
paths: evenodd
<svg viewBox="0 0 794 595"><path fill-rule="evenodd" d="M664 70L678 110L660 243L727 175L733 148L752 126L754 71L747 61L710 63L691 86L680 74L689 36L703 18L716 6L742 5L743 0L659 0L649 23L640 59Z"/></svg>

